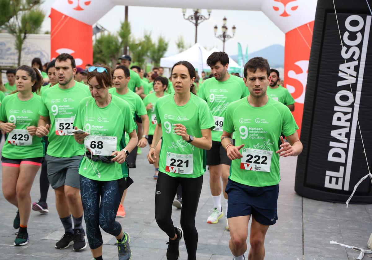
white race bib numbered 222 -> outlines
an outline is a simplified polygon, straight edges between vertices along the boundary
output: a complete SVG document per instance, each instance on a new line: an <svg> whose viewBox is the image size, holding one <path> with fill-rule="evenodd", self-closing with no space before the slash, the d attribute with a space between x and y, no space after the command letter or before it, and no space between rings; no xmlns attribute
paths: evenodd
<svg viewBox="0 0 372 260"><path fill-rule="evenodd" d="M272 151L243 148L240 169L270 172Z"/></svg>

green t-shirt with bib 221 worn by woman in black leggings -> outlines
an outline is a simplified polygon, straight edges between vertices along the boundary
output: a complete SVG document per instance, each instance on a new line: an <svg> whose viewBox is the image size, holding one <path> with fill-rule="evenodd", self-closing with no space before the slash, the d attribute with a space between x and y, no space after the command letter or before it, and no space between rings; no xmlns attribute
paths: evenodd
<svg viewBox="0 0 372 260"><path fill-rule="evenodd" d="M194 137L202 137L201 129L214 129L213 116L205 101L191 94L190 100L179 106L174 102L174 94L166 95L157 100L155 114L163 131L159 171L182 178L198 178L203 175L205 150L187 143L175 134L174 124L183 124L187 134Z"/></svg>

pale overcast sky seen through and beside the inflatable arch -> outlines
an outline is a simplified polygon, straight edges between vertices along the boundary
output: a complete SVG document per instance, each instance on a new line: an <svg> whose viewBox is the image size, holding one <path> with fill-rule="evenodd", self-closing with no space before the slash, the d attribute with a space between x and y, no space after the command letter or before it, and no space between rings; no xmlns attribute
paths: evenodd
<svg viewBox="0 0 372 260"><path fill-rule="evenodd" d="M50 9L55 0L46 0L42 4L46 18L42 25L42 32L50 31ZM62 0L58 0L62 1ZM67 1L67 0L66 0ZM117 32L120 22L124 20L124 6L115 6L97 21L110 32ZM186 15L192 14L187 9ZM202 14L208 16L206 10ZM222 19L226 16L228 33L232 35L231 27L236 26L233 39L225 43L225 52L229 55L238 53L237 43L240 42L243 52L248 45L248 53L258 51L273 44L284 45L284 33L266 15L260 11L212 10L211 18L198 27L198 42L207 49L217 47L222 51L222 41L215 38L214 26L221 32ZM163 35L169 41L166 56L177 53L176 40L183 35L187 44L195 43L195 26L183 19L182 9L161 7L129 6L128 20L131 23L132 35L141 38L144 31L151 32L153 39Z"/></svg>

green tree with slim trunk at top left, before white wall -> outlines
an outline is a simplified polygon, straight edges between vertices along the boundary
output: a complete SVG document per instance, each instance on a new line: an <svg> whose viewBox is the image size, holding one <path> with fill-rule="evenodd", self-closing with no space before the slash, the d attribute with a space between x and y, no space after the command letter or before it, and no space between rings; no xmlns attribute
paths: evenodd
<svg viewBox="0 0 372 260"><path fill-rule="evenodd" d="M13 2L13 1L11 1ZM20 2L20 1L14 1ZM9 33L15 36L15 46L18 52L18 66L21 62L22 46L30 33L38 33L45 14L38 7L28 10L28 4L35 2L31 0L21 1L20 6L12 6L15 9L15 15L5 23Z"/></svg>

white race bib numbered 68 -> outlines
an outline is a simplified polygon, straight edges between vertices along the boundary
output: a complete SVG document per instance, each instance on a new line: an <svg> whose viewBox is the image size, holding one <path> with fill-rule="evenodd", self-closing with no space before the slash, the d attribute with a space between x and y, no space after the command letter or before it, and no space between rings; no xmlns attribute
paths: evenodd
<svg viewBox="0 0 372 260"><path fill-rule="evenodd" d="M92 155L110 156L116 151L116 141L116 136L87 136L84 145Z"/></svg>

